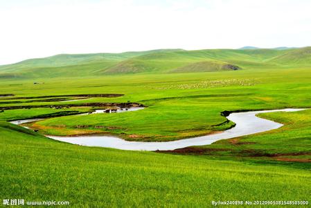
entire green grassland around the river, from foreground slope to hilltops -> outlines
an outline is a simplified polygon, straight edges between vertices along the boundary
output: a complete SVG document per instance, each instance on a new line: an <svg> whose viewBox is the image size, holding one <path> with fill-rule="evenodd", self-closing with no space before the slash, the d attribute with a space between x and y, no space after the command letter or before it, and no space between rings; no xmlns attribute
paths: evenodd
<svg viewBox="0 0 311 208"><path fill-rule="evenodd" d="M90 148L42 136L101 133L172 141L231 128L220 114L224 110L310 108L310 50L56 55L0 66L0 95L15 95L0 97L0 196L136 207L310 200L310 110L260 114L285 125L166 153ZM226 69L228 64L239 69ZM118 103L140 103L145 109L69 115ZM6 122L38 116L57 117L28 125L39 133Z"/></svg>

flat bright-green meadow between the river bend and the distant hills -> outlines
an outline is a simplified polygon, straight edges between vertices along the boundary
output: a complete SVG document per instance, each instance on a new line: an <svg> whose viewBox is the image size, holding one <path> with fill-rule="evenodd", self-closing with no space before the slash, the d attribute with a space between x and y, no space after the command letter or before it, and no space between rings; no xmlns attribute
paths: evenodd
<svg viewBox="0 0 311 208"><path fill-rule="evenodd" d="M163 141L206 135L215 130L229 128L229 125L215 126L225 121L225 118L220 116L220 112L224 110L310 107L310 78L308 68L188 73L187 76L183 73L145 74L78 78L66 80L66 83L63 83L63 80L44 79L45 84L42 85L14 81L3 83L0 93L10 92L17 96L125 94L117 98L91 98L72 103L131 101L148 107L124 114L94 114L79 116L79 119L76 116L67 116L40 121L38 124L48 126L45 128L48 134L70 134L70 130L73 131L71 134L76 134L77 125L88 125L85 130L94 130L95 126L100 125L106 127L102 129L103 132L121 134L125 139ZM65 103L40 101L2 106ZM62 129L65 132L62 132ZM130 135L139 137L132 138Z"/></svg>

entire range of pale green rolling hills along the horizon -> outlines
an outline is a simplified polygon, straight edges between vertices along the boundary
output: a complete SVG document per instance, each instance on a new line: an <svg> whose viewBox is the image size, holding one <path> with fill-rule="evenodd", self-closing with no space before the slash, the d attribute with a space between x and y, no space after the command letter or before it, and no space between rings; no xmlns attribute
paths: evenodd
<svg viewBox="0 0 311 208"><path fill-rule="evenodd" d="M118 73L193 73L311 65L311 47L292 49L159 49L125 53L60 54L0 66L0 78L105 76Z"/></svg>

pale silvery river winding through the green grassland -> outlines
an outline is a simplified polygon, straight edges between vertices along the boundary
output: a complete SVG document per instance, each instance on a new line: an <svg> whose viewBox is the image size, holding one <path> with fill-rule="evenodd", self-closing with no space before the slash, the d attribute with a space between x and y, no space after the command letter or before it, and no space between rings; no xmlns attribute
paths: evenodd
<svg viewBox="0 0 311 208"><path fill-rule="evenodd" d="M224 132L206 135L202 137L193 137L189 139L180 139L176 141L159 141L159 142L143 142L143 141L125 141L118 137L112 136L80 136L80 137L56 137L47 135L51 139L58 141L65 141L71 144L78 144L82 146L99 146L106 148L117 148L121 150L175 150L177 148L184 148L187 146L203 146L212 144L220 139L230 139L234 137L241 137L245 135L252 135L259 132L265 132L280 128L283 124L261 119L256 114L266 112L296 112L305 109L287 108L283 110L261 110L251 112L232 113L227 116L227 119L236 123L236 126L225 130ZM11 123L21 124L34 119L12 121Z"/></svg>

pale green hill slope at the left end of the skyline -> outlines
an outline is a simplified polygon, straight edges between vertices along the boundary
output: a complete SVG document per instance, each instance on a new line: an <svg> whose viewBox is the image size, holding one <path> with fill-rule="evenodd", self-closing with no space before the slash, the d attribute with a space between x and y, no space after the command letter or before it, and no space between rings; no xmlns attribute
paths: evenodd
<svg viewBox="0 0 311 208"><path fill-rule="evenodd" d="M135 56L162 51L180 50L181 49L160 49L152 51L129 51L125 53L60 54L47 58L34 58L15 64L3 65L0 66L0 73L12 76L36 76L36 73L48 73L51 75L54 73L53 71L56 71L56 76L62 76L62 73L66 76L68 74L66 70L68 69L71 70L71 72L75 72L76 76L80 76L87 73L94 74L94 71L98 69L103 70L105 67L111 67L113 64ZM52 70L52 68L55 70ZM62 73L60 73L60 71ZM84 73L80 74L81 71L84 71ZM33 74L29 75L28 73ZM70 74L69 72L69 75Z"/></svg>

